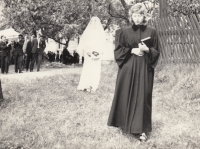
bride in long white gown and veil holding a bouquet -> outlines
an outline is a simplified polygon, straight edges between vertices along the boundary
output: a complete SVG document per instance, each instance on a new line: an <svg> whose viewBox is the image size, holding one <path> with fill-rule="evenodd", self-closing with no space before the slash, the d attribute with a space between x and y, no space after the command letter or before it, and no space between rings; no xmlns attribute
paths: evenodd
<svg viewBox="0 0 200 149"><path fill-rule="evenodd" d="M78 90L96 91L98 88L105 38L105 32L100 19L92 17L80 38L77 48L80 56L84 56Z"/></svg>

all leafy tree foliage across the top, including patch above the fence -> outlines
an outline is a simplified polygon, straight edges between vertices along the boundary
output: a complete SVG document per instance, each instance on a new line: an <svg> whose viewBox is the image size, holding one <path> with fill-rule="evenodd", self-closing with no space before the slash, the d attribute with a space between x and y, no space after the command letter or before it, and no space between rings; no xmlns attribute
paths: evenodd
<svg viewBox="0 0 200 149"><path fill-rule="evenodd" d="M98 16L104 29L113 24L130 25L128 11L135 3L145 4L153 17L158 17L158 0L2 0L0 27L11 26L21 33L41 30L56 42L68 42L80 36L92 16ZM2 2L1 2L2 3ZM200 12L199 0L168 0L171 16ZM64 39L61 42L60 39Z"/></svg>

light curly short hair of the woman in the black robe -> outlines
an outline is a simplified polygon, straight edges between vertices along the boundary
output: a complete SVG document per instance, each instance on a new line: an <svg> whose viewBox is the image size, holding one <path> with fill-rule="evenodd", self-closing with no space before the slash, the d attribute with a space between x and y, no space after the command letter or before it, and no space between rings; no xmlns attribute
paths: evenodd
<svg viewBox="0 0 200 149"><path fill-rule="evenodd" d="M148 20L149 20L147 18L150 17L150 14L147 13L147 9L146 9L146 7L145 7L145 5L143 3L137 3L137 4L133 5L133 6L131 6L131 8L129 9L129 21L131 23L134 23L133 19L132 19L132 14L133 13L144 15L144 20L143 20L142 25L147 25Z"/></svg>

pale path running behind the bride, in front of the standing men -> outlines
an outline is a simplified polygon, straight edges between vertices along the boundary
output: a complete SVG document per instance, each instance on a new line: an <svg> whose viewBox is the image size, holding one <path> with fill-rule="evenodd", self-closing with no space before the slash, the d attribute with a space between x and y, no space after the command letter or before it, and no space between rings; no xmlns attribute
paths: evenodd
<svg viewBox="0 0 200 149"><path fill-rule="evenodd" d="M10 68L14 69L14 68ZM80 74L82 67L69 67L69 68L42 68L40 72L26 72L23 73L14 73L11 71L9 74L4 75L0 74L1 80L5 79L33 79L33 78L41 78L46 76L53 76L56 74L70 74L76 73Z"/></svg>

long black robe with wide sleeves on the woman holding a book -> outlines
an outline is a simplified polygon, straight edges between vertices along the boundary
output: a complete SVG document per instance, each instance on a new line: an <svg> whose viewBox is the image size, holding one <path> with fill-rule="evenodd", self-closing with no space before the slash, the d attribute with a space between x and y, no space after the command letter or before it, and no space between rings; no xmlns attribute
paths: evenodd
<svg viewBox="0 0 200 149"><path fill-rule="evenodd" d="M151 37L149 53L131 54L131 49L146 37ZM153 78L159 54L155 28L133 25L116 31L114 55L119 70L108 126L130 134L152 130Z"/></svg>

